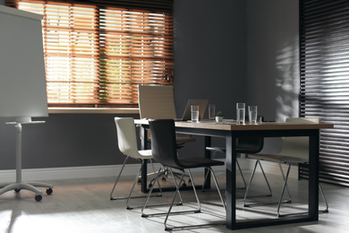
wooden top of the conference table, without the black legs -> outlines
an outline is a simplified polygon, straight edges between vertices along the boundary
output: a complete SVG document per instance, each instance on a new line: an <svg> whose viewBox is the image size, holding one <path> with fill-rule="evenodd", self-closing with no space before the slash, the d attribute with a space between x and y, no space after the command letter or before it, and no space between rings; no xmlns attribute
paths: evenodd
<svg viewBox="0 0 349 233"><path fill-rule="evenodd" d="M135 119L135 124L148 125L147 119ZM201 128L201 129L215 129L215 130L285 130L285 129L325 129L333 128L333 124L301 124L291 122L262 122L257 125L251 125L248 122L245 125L236 125L234 121L227 120L223 123L209 122L208 120L200 121L199 123L192 123L186 121L175 121L176 127L185 128Z"/></svg>

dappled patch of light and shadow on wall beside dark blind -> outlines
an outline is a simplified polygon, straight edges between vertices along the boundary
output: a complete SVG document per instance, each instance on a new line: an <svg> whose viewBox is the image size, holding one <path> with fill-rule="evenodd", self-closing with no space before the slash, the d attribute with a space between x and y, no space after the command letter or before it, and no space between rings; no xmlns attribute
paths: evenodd
<svg viewBox="0 0 349 233"><path fill-rule="evenodd" d="M298 39L292 40L277 51L277 121L285 121L286 117L299 115L299 49L296 45Z"/></svg>

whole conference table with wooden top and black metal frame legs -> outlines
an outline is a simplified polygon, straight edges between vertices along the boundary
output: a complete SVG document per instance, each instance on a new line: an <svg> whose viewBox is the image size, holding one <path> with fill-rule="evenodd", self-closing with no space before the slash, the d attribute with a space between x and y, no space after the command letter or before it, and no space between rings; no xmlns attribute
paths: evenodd
<svg viewBox="0 0 349 233"><path fill-rule="evenodd" d="M141 148L148 149L147 119L134 120L141 126ZM332 124L302 124L302 123L259 123L257 125L236 125L233 121L215 123L200 121L199 123L175 121L178 134L192 134L205 137L205 148L211 145L211 137L225 138L226 140L226 228L248 229L319 220L319 131L333 128ZM251 220L236 220L236 139L243 137L309 137L309 186L308 211L297 215L287 215L282 218L266 218ZM210 151L205 151L205 157L210 158ZM144 166L146 167L146 166ZM147 169L141 174L142 192L147 192ZM209 184L206 184L209 186Z"/></svg>

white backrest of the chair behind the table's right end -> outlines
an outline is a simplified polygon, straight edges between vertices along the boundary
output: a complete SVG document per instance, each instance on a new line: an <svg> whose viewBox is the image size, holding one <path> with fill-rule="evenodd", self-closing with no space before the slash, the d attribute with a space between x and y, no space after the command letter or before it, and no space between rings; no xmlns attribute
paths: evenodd
<svg viewBox="0 0 349 233"><path fill-rule="evenodd" d="M302 124L319 124L318 117L288 117L286 122ZM309 158L309 137L285 137L281 155L292 156L303 160Z"/></svg>

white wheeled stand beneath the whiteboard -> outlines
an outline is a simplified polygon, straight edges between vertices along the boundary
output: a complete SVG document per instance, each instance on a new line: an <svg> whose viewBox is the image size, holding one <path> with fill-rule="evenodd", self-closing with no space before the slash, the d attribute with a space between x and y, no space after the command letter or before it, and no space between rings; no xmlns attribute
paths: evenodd
<svg viewBox="0 0 349 233"><path fill-rule="evenodd" d="M21 182L21 125L23 124L40 124L45 123L45 121L30 121L30 122L6 122L8 125L15 125L16 128L16 183L13 184L2 184L0 187L0 195L4 194L10 190L14 190L16 193L19 193L21 189L30 190L37 195L35 196L35 200L37 202L42 199L42 192L36 187L47 187L47 194L52 194L53 186L45 183L38 182Z"/></svg>

